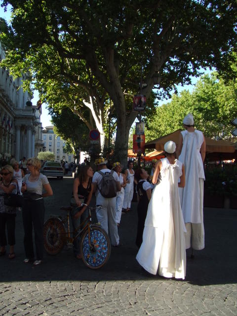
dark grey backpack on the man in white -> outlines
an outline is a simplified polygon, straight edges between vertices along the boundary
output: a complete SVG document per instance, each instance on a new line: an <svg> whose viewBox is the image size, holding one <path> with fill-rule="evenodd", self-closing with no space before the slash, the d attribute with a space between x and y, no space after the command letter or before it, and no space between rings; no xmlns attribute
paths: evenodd
<svg viewBox="0 0 237 316"><path fill-rule="evenodd" d="M102 180L100 181L100 185L98 184L98 189L102 195L102 197L116 197L117 196L117 188L116 181L113 176L114 171L110 172L101 172L98 171L99 174L102 175Z"/></svg>

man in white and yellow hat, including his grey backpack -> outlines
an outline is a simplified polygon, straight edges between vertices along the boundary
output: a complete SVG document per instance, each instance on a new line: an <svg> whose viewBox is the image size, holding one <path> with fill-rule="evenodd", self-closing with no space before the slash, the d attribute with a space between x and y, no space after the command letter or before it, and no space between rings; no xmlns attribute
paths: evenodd
<svg viewBox="0 0 237 316"><path fill-rule="evenodd" d="M116 196L121 190L117 172L110 170L104 158L95 160L97 171L94 173L92 183L96 195L96 205L102 208L96 213L97 220L101 227L107 232L110 229L111 243L113 246L119 245L118 226L116 223Z"/></svg>

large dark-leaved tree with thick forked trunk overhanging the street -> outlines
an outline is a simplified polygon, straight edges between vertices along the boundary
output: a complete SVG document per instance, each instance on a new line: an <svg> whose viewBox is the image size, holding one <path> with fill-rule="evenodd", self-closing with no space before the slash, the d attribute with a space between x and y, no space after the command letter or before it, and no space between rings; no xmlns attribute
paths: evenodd
<svg viewBox="0 0 237 316"><path fill-rule="evenodd" d="M3 3L13 7L8 65L50 49L59 64L63 61L64 73L67 63L70 69L75 63L82 66L82 73L75 74L81 85L88 83L86 67L113 102L115 153L120 161L126 159L129 129L137 116L132 96L139 90L141 64L145 83L141 92L149 97L154 78L161 79L160 87L169 92L175 83L189 83L200 67L221 69L236 45L237 8L230 0Z"/></svg>

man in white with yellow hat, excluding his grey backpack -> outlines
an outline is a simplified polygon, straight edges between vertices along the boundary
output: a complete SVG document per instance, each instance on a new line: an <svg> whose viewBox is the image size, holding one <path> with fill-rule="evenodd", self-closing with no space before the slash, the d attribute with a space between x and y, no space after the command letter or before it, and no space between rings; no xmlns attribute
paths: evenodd
<svg viewBox="0 0 237 316"><path fill-rule="evenodd" d="M103 197L101 194L103 176L100 172L106 174L113 174L113 177L116 181L116 190L117 192L121 190L121 185L119 182L118 174L107 168L106 166L107 160L104 158L99 158L95 160L95 164L97 165L98 171L96 171L93 175L92 183L94 185L94 192L96 195L96 205L101 205L102 208L97 210L96 216L98 222L101 223L101 227L109 233L113 246L119 245L119 237L118 237L118 226L116 223L116 193L114 197Z"/></svg>

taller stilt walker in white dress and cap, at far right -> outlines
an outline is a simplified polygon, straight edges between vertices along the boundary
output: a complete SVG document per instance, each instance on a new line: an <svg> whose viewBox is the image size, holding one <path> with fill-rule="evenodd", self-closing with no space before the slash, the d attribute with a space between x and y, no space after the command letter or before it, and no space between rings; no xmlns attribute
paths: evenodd
<svg viewBox="0 0 237 316"><path fill-rule="evenodd" d="M184 164L186 186L179 189L180 202L187 230L186 249L204 248L203 225L203 183L205 180L203 161L206 153L205 138L201 131L194 128L194 117L188 114L183 119L185 130L180 133L177 157Z"/></svg>

